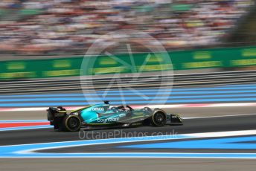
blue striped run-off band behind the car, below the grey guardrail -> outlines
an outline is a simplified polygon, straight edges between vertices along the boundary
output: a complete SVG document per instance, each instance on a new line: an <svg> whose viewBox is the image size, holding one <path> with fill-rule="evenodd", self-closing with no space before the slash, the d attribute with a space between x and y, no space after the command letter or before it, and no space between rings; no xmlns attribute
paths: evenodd
<svg viewBox="0 0 256 171"><path fill-rule="evenodd" d="M93 100L102 103L109 100L119 105L124 96L127 104L173 104L173 103L239 103L256 102L256 85L215 86L205 88L147 88L140 90L109 90L106 94L97 91L87 94L16 94L0 95L0 107L34 107L34 106L84 106Z"/></svg>

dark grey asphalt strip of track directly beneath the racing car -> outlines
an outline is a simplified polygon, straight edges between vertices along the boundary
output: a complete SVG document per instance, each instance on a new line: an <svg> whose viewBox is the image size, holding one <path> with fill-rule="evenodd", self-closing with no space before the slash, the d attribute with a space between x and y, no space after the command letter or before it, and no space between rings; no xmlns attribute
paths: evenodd
<svg viewBox="0 0 256 171"><path fill-rule="evenodd" d="M142 132L144 135L150 136L153 133L161 132L163 135L172 134L188 134L196 132L220 132L220 131L236 131L246 129L256 129L256 114L243 115L233 117L206 117L184 120L183 126L143 126L136 128L118 129L118 132L132 134L133 132ZM88 134L86 139L95 139L98 132L102 135L115 134L117 129L101 129L86 131ZM120 138L116 137L102 138ZM0 145L13 145L23 143L47 143L54 141L77 141L80 140L78 132L56 132L53 129L28 129L19 131L0 132Z"/></svg>

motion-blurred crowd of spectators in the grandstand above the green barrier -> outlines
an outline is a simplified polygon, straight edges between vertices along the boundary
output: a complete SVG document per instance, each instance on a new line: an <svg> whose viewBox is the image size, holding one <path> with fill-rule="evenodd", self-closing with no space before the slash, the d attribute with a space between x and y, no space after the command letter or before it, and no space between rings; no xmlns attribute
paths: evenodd
<svg viewBox="0 0 256 171"><path fill-rule="evenodd" d="M252 5L252 0L1 0L0 53L80 54L119 29L143 31L168 50L214 46Z"/></svg>

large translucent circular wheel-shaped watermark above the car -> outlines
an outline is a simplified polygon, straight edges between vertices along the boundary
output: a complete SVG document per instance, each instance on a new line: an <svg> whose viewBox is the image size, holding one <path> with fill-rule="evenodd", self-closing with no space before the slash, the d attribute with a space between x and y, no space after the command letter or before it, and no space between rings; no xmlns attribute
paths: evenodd
<svg viewBox="0 0 256 171"><path fill-rule="evenodd" d="M138 49L145 52L137 53ZM89 47L80 85L90 105L162 105L173 86L173 65L157 39L138 30L116 30Z"/></svg>

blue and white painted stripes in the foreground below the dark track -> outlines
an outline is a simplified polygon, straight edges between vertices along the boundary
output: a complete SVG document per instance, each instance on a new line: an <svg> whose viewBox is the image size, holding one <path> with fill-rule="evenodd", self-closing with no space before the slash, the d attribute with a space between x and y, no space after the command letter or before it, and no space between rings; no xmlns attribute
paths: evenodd
<svg viewBox="0 0 256 171"><path fill-rule="evenodd" d="M157 152L158 148L179 148L179 149L256 149L256 136L238 137L238 138L216 138L206 140L191 140L196 138L185 135L164 135L156 137L138 137L138 138L114 138L92 141L66 141L57 143L36 143L13 146L0 146L0 158L256 158L256 153L186 153L186 152ZM179 142L150 143L150 141L171 141L179 139ZM90 146L111 143L135 143L147 141L148 143L118 146L118 148L143 148L145 152L76 152L76 153L42 153L33 152L35 150ZM147 152L147 148L154 148L156 152Z"/></svg>

